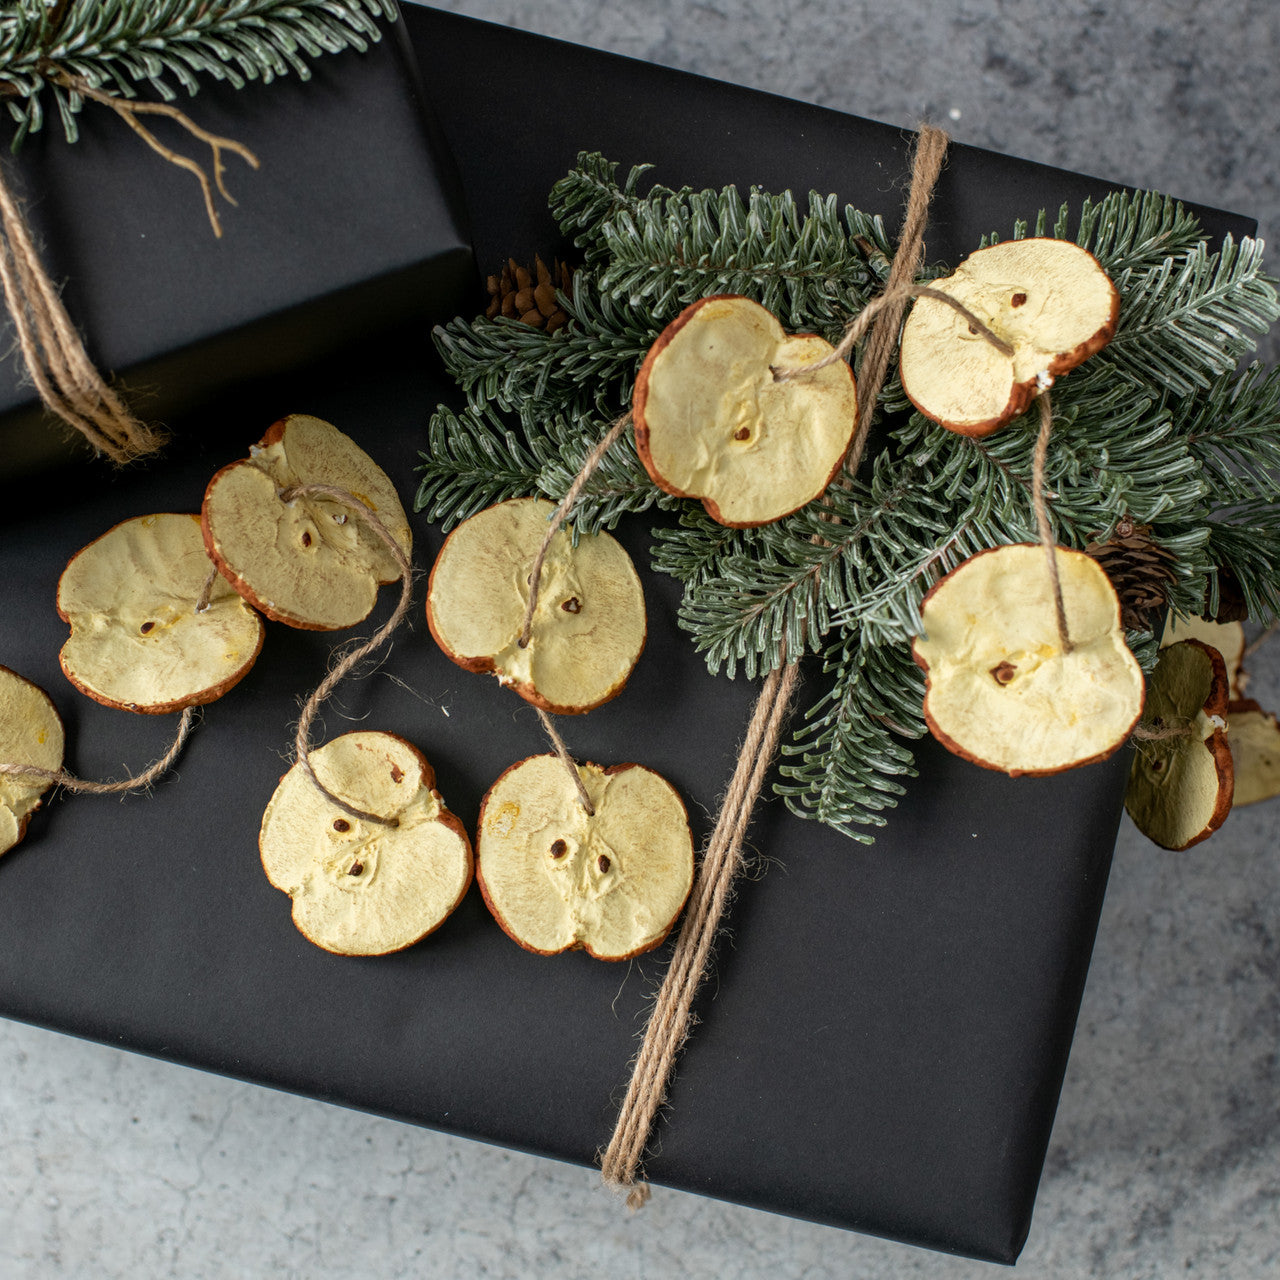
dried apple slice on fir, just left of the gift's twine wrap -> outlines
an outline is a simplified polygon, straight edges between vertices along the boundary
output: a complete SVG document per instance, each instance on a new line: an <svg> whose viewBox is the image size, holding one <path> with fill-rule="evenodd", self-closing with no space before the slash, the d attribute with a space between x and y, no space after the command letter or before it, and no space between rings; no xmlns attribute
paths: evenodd
<svg viewBox="0 0 1280 1280"><path fill-rule="evenodd" d="M842 360L780 381L773 370L817 364L831 344L788 337L750 298L701 298L676 316L636 378L636 452L654 484L701 498L712 520L745 529L781 520L835 479L858 425Z"/></svg>

